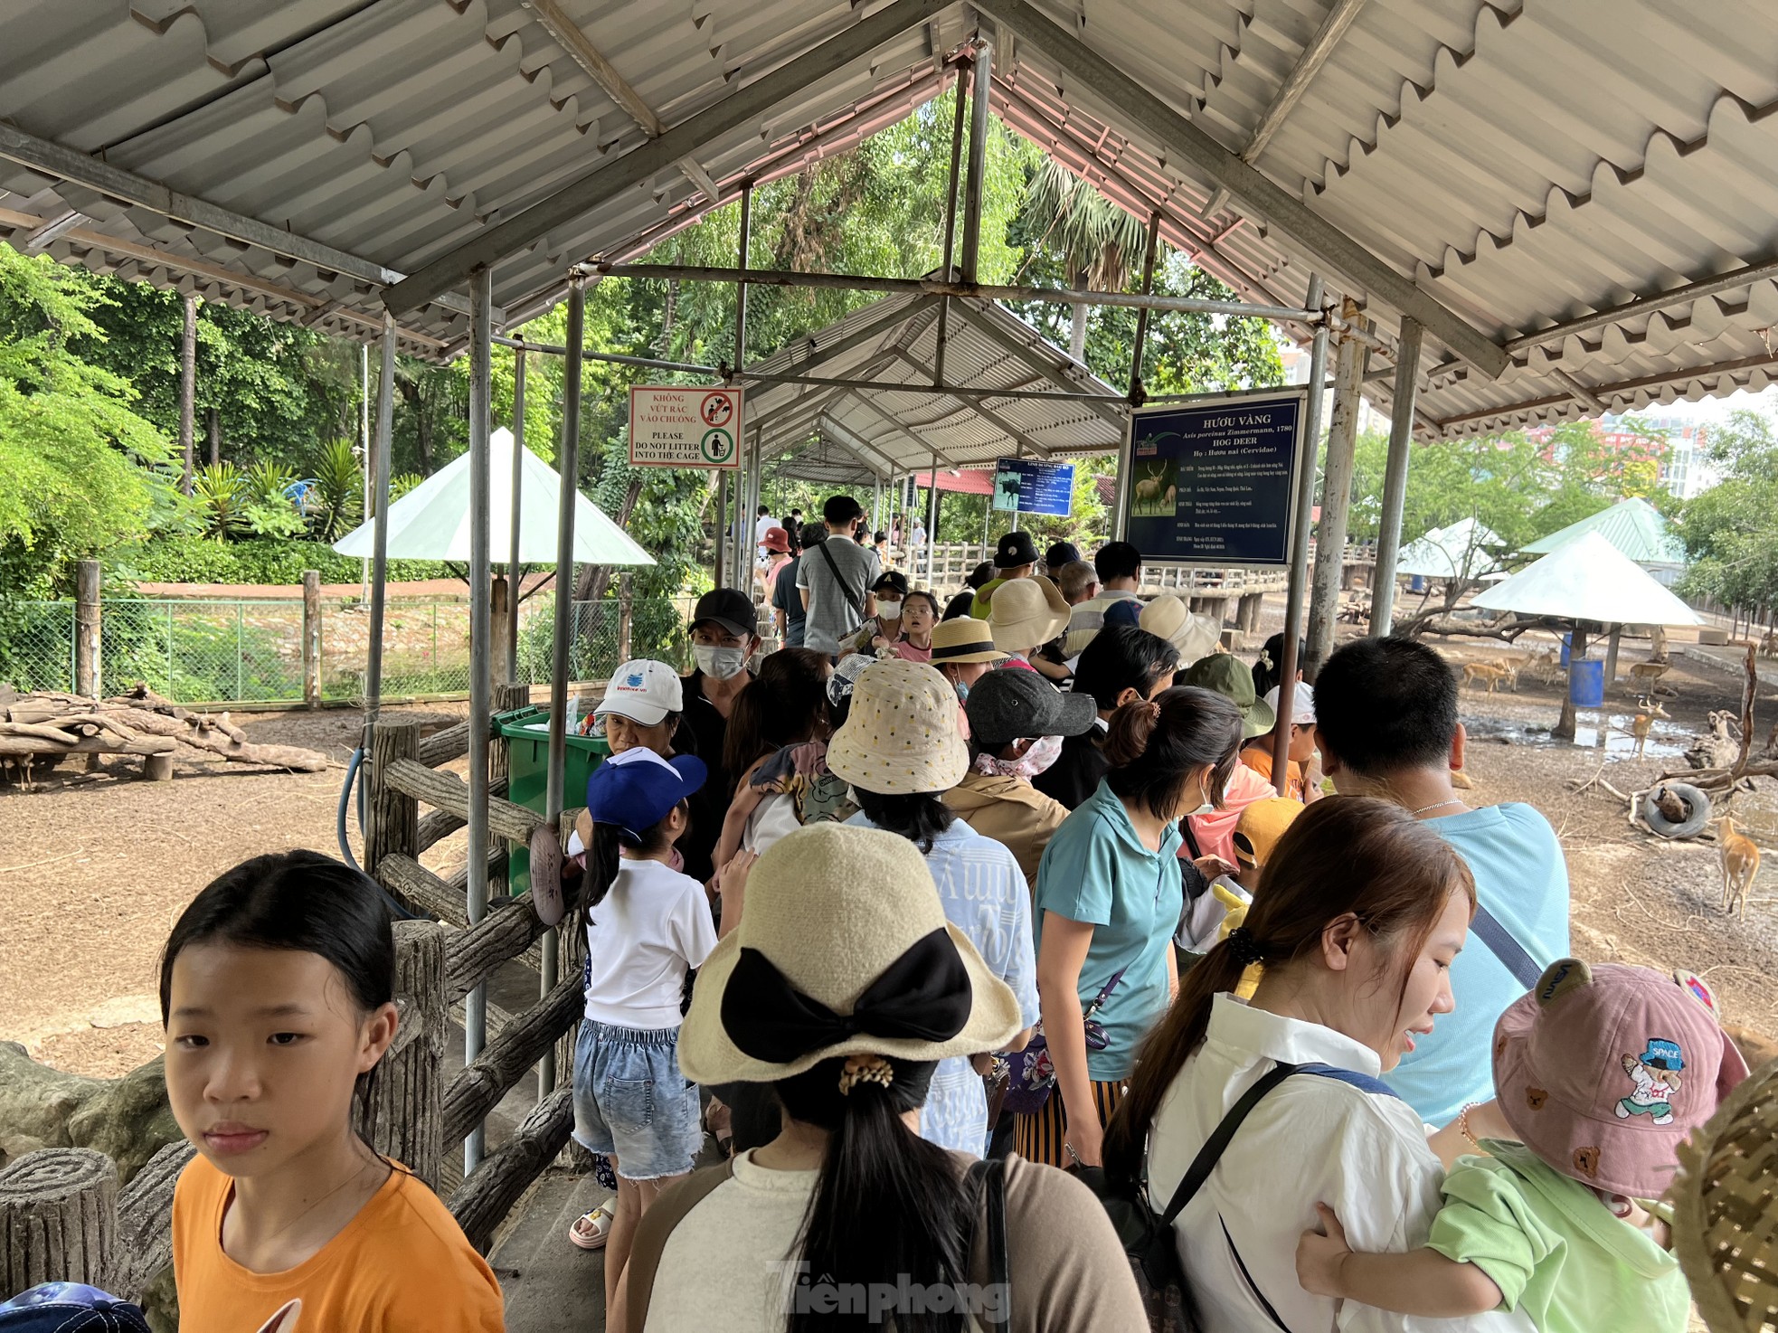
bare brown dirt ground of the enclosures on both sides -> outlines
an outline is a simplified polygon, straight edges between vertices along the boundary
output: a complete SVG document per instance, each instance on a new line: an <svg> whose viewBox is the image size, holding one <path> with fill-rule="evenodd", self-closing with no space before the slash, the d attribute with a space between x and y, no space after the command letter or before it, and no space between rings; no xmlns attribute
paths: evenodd
<svg viewBox="0 0 1778 1333"><path fill-rule="evenodd" d="M1440 642L1453 661L1506 649ZM1620 670L1646 656L1625 645ZM1671 720L1655 723L1646 755L1630 754L1634 700L1607 691L1607 729L1582 713L1581 745L1549 739L1561 693L1526 679L1517 693L1463 691L1474 803L1526 800L1561 835L1574 883L1575 953L1702 974L1725 1018L1778 1034L1778 912L1769 873L1753 885L1746 921L1716 906L1718 853L1710 841L1661 842L1636 832L1623 802L1570 782L1600 771L1620 791L1682 770L1691 736L1712 707L1739 707L1741 677L1678 652L1666 684ZM1769 700L1769 697L1767 697ZM411 709L446 725L464 706ZM1760 707L1757 738L1771 723ZM293 775L222 762L180 761L172 782L142 782L133 761L101 773L55 771L32 791L0 787L0 1038L23 1042L59 1068L117 1075L160 1049L156 967L172 921L210 878L235 862L284 848L334 851L343 762L357 738L352 711L235 714L254 741L304 745L341 762ZM1591 727L1588 723L1593 723ZM71 766L64 766L71 768ZM1737 818L1778 846L1778 784L1735 798ZM350 823L356 850L356 821ZM427 855L436 869L461 858L459 834Z"/></svg>

